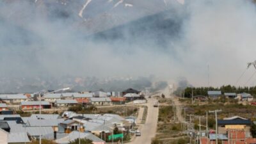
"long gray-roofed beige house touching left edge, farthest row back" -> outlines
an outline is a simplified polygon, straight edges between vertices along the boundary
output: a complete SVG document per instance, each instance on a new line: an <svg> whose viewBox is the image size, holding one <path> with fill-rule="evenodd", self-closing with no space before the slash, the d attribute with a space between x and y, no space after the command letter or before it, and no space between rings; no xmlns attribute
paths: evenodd
<svg viewBox="0 0 256 144"><path fill-rule="evenodd" d="M23 94L1 94L0 99L6 103L20 103L28 100L28 97Z"/></svg>

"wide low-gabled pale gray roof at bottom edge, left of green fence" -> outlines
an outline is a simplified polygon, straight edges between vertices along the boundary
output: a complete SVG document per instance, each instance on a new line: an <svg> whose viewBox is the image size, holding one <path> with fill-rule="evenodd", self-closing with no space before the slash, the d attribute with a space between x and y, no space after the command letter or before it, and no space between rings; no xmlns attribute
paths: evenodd
<svg viewBox="0 0 256 144"><path fill-rule="evenodd" d="M55 140L55 142L60 144L67 144L70 141L76 140L77 138L86 138L86 139L92 140L93 144L105 144L105 141L101 140L97 136L94 136L90 132L78 132L78 131L73 131L70 134L68 134L68 136Z"/></svg>

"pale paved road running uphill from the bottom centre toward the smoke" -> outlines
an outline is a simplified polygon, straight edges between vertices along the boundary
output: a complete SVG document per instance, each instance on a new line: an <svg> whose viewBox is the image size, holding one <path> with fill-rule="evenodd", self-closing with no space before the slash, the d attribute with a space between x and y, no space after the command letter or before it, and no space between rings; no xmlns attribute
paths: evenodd
<svg viewBox="0 0 256 144"><path fill-rule="evenodd" d="M137 136L129 144L150 144L152 138L155 137L158 119L158 108L153 107L155 102L156 99L148 99L148 115L145 124L140 129L141 136Z"/></svg>

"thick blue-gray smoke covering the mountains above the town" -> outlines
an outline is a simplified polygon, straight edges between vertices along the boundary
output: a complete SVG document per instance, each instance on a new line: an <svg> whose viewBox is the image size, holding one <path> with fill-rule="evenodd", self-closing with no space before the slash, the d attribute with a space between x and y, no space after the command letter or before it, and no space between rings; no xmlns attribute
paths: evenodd
<svg viewBox="0 0 256 144"><path fill-rule="evenodd" d="M127 9L122 7L113 9L126 20L112 26L112 21L104 22L108 17L99 18L96 9L79 17L83 3L77 1L70 1L67 8L44 1L1 1L0 76L154 74L171 82L184 76L202 86L207 84L209 65L211 85L234 84L246 63L255 60L255 4L249 0L168 2L159 6L161 10L148 7L148 12L154 12L148 15L134 9L140 17L125 15ZM137 4L143 3L147 2ZM136 1L132 4L136 6ZM88 15L97 20L91 22ZM246 73L239 84L251 74Z"/></svg>

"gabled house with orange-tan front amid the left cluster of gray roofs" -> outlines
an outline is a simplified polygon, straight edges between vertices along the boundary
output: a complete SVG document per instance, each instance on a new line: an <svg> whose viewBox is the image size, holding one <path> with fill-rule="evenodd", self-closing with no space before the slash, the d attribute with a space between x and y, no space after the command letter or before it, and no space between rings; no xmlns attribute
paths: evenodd
<svg viewBox="0 0 256 144"><path fill-rule="evenodd" d="M76 120L65 120L58 125L58 132L69 134L72 131L84 132L83 123L77 122Z"/></svg>

